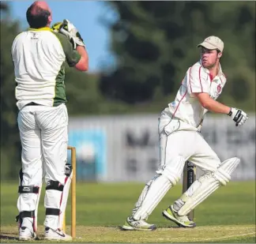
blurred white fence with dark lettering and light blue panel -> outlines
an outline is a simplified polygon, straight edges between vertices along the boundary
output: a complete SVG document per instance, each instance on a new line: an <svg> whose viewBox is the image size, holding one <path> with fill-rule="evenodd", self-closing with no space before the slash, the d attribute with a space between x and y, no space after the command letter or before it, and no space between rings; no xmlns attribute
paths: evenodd
<svg viewBox="0 0 256 244"><path fill-rule="evenodd" d="M157 126L157 114L70 118L69 143L77 148L78 179L148 181L159 162ZM202 134L220 160L241 159L233 180L255 178L254 114L242 127L235 127L228 116L209 114Z"/></svg>

